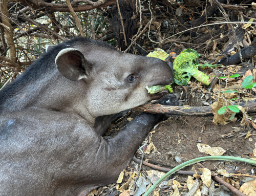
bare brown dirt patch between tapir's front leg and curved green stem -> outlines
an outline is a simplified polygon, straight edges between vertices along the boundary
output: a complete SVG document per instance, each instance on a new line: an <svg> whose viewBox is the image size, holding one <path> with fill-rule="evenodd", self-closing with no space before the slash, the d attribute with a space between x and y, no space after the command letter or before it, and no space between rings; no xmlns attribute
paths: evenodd
<svg viewBox="0 0 256 196"><path fill-rule="evenodd" d="M152 142L157 152L146 155L145 158L153 164L173 168L179 164L176 160L183 163L207 156L199 152L198 143L208 144L211 147L222 147L227 150L224 155L240 155L243 158L250 158L249 154L254 149L256 138L251 136L251 140L244 139L245 136L241 137L241 134L247 132L247 127L240 127L239 122L216 125L212 123L212 117L170 117L155 128L155 133L152 136ZM233 136L222 137L229 133L232 133ZM218 161L206 161L204 166L211 170L219 169ZM251 173L251 169L250 165L244 164L237 168L242 173Z"/></svg>

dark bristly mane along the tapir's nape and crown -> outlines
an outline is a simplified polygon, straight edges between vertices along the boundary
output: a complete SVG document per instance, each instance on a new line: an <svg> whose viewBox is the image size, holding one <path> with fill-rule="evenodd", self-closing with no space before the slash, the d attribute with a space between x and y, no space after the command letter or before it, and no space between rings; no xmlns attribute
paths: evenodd
<svg viewBox="0 0 256 196"><path fill-rule="evenodd" d="M8 84L3 90L0 91L0 113L4 112L5 108L12 101L11 98L22 92L26 84L38 80L40 77L56 69L55 57L65 48L73 48L74 46L87 46L87 47L102 47L109 50L117 51L116 48L108 45L105 42L91 40L86 37L75 37L72 40L67 40L57 46L52 47L49 51L42 54L34 63L27 68L27 70L18 76L13 82Z"/></svg>

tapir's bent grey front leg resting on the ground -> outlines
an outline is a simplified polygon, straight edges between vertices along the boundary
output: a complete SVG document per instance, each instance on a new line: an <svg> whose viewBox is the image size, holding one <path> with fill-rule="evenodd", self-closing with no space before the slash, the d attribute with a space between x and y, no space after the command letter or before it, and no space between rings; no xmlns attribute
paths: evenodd
<svg viewBox="0 0 256 196"><path fill-rule="evenodd" d="M173 104L175 95L171 95L169 104ZM159 103L162 103L160 101ZM166 102L166 98L164 99ZM175 103L178 104L178 103ZM99 186L113 183L120 172L127 167L135 150L145 139L150 130L163 118L162 115L141 114L126 124L112 139L101 140L94 157L95 166L92 168Z"/></svg>

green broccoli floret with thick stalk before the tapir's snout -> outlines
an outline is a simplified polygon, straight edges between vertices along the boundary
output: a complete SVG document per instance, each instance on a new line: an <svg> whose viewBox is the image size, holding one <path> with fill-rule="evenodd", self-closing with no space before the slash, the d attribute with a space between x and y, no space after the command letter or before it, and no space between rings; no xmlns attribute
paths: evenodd
<svg viewBox="0 0 256 196"><path fill-rule="evenodd" d="M205 85L210 84L210 78L198 70L198 54L195 50L186 49L178 55L173 62L174 82L179 85L187 85L191 76Z"/></svg>

